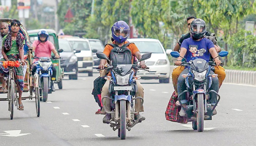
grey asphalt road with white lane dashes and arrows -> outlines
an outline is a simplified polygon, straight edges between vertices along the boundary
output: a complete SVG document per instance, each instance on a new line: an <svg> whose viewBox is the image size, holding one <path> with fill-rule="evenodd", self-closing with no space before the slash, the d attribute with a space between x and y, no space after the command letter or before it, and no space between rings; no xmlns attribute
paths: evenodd
<svg viewBox="0 0 256 146"><path fill-rule="evenodd" d="M78 80L65 77L63 89L49 94L41 102L41 115L36 117L35 101L25 100L24 111L14 111L10 120L8 102L0 102L1 146L256 146L256 87L223 84L218 114L205 121L204 132L193 131L188 124L165 120L165 110L172 84L158 80L140 80L145 101L142 114L146 120L127 131L120 140L117 131L95 115L98 105L91 91L93 80L79 73ZM0 95L5 97L6 94ZM18 130L18 131L13 131ZM21 131L19 131L21 130Z"/></svg>

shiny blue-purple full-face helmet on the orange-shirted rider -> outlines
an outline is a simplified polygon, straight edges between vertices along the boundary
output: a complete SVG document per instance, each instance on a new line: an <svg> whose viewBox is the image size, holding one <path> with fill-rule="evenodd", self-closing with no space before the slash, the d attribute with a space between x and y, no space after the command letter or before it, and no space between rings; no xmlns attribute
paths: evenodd
<svg viewBox="0 0 256 146"><path fill-rule="evenodd" d="M120 20L111 27L111 32L112 32L112 38L118 42L118 43L123 43L127 40L129 33L130 33L130 28L126 22L123 20Z"/></svg>

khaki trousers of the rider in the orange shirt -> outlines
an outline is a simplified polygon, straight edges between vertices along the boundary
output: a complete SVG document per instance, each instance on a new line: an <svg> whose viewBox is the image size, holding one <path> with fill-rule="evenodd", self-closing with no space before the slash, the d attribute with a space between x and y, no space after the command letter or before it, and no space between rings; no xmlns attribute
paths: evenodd
<svg viewBox="0 0 256 146"><path fill-rule="evenodd" d="M110 97L110 93L109 93L109 80L106 81L106 83L104 84L102 91L101 91L101 98L103 98L104 96L108 96ZM140 82L138 80L136 80L136 84L138 87L138 91L135 94L135 97L142 97L144 99L144 89L142 87L142 84L140 84ZM111 100L108 98L104 98L102 100L102 104L103 104L103 109L102 111L106 110L106 111L111 111ZM135 112L143 112L144 108L142 105L142 101L141 99L136 99L135 100Z"/></svg>

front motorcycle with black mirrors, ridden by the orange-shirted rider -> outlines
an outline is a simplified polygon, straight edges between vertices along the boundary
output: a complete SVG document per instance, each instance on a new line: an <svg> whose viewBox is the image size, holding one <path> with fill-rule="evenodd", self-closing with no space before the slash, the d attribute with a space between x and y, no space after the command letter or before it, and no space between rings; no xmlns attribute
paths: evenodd
<svg viewBox="0 0 256 146"><path fill-rule="evenodd" d="M150 58L151 53L143 54L137 64L119 65L111 65L110 60L103 53L96 53L96 55L98 58L108 61L109 65L105 66L103 69L110 70L112 75L105 77L105 80L110 80L110 97L105 96L102 98L102 100L108 98L114 101L114 103L112 102L111 104L112 111L106 111L106 113L111 114L110 123L107 124L110 124L110 127L112 127L114 131L118 129L118 137L125 139L126 129L130 131L133 126L141 122L139 119L135 119L134 115L139 114L139 112L135 112L134 100L141 99L143 104L142 97L135 97L135 93L137 92L136 80L140 79L139 76L136 76L136 71L142 69L138 65L138 62ZM149 68L147 67L146 69Z"/></svg>

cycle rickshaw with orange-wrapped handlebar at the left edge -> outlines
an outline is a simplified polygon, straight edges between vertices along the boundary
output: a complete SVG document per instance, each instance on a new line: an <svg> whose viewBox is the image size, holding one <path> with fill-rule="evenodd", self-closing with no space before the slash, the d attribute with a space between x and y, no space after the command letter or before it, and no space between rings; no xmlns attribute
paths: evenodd
<svg viewBox="0 0 256 146"><path fill-rule="evenodd" d="M6 22L8 23L9 30L11 30L11 21L12 19L0 19L0 22ZM23 66L23 76L24 76L24 92L29 92L29 96L22 97L22 100L33 98L35 99L35 108L37 112L37 117L40 116L40 95L39 95L39 86L38 86L38 76L32 76L32 48L29 44L29 35L27 34L26 28L21 25L19 32L23 35L25 38L25 45L24 45L24 59L27 64L27 67L24 68ZM18 93L17 93L17 87L15 84L15 78L14 78L14 67L19 66L19 62L9 61L7 62L0 62L1 65L4 65L9 68L9 76L6 78L7 83L7 98L0 98L0 101L8 101L8 111L10 111L10 119L13 119L14 115L14 105L17 107L18 110ZM33 95L34 92L34 95ZM0 93L6 93L3 91L0 91Z"/></svg>

